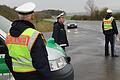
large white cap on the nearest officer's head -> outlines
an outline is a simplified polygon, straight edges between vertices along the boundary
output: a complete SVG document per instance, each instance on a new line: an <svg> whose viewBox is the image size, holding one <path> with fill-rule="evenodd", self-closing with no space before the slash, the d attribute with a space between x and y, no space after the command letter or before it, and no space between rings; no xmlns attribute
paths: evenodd
<svg viewBox="0 0 120 80"><path fill-rule="evenodd" d="M36 5L33 2L27 2L24 3L21 6L18 6L15 11L17 11L18 13L30 13L33 12L35 9Z"/></svg>

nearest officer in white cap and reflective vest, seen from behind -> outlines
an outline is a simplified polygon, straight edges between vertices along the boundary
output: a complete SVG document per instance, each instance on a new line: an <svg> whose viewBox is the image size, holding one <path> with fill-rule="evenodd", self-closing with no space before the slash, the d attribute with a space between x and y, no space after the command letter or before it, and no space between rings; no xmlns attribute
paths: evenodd
<svg viewBox="0 0 120 80"><path fill-rule="evenodd" d="M12 23L6 37L15 80L50 80L45 39L31 23L34 9L35 4L32 2L17 7L15 11L20 19Z"/></svg>

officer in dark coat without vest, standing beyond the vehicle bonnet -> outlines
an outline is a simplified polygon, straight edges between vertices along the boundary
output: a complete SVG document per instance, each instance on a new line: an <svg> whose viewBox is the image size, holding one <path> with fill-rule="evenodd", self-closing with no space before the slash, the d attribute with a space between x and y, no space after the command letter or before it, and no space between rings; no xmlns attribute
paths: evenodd
<svg viewBox="0 0 120 80"><path fill-rule="evenodd" d="M69 46L66 30L64 27L64 13L57 16L57 22L54 23L52 37L55 42L59 44L64 50L65 47Z"/></svg>

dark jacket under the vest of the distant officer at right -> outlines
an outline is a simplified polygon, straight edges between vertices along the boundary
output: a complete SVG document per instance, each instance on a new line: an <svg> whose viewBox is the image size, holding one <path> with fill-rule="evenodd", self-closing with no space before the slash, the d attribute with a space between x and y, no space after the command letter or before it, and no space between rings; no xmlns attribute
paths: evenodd
<svg viewBox="0 0 120 80"><path fill-rule="evenodd" d="M105 16L105 19L109 19L110 17L112 17L112 15L111 14L107 14ZM104 22L102 22L103 34L105 34L105 35L114 35L114 34L116 34L117 35L118 34L118 29L117 29L117 26L116 26L115 19L113 19L113 21L112 21L112 27L113 27L113 29L105 31L104 30Z"/></svg>

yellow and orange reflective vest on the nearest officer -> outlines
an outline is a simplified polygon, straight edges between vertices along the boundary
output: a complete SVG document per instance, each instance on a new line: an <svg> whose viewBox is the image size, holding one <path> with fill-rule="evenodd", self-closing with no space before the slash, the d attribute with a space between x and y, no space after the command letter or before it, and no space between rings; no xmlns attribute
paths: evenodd
<svg viewBox="0 0 120 80"><path fill-rule="evenodd" d="M15 72L36 71L32 65L31 48L40 32L28 28L19 37L6 37L9 55L12 58L12 67ZM45 38L42 36L45 40Z"/></svg>

